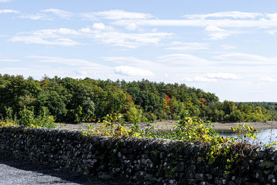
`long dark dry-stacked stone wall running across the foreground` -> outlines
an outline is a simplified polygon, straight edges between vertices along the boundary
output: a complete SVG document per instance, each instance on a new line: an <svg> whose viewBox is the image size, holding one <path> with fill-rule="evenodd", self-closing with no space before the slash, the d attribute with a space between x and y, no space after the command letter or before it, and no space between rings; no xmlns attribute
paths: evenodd
<svg viewBox="0 0 277 185"><path fill-rule="evenodd" d="M3 127L0 154L100 179L139 184L276 184L277 150L245 149L226 170L209 164L203 143L82 136L78 131Z"/></svg>

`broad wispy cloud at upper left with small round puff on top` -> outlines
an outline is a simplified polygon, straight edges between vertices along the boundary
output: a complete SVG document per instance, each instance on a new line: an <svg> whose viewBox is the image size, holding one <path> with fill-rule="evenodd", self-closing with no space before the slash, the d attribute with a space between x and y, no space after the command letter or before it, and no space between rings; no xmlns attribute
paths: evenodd
<svg viewBox="0 0 277 185"><path fill-rule="evenodd" d="M77 38L93 38L102 44L110 46L123 46L136 48L145 44L159 44L161 39L168 38L172 33L122 33L114 30L111 26L94 24L91 28L80 28L73 30L69 28L35 30L31 32L18 33L10 39L12 42L25 42L26 44L53 44L62 46L75 46L80 44L69 38L78 35ZM66 37L65 37L66 36ZM76 39L76 37L74 37Z"/></svg>

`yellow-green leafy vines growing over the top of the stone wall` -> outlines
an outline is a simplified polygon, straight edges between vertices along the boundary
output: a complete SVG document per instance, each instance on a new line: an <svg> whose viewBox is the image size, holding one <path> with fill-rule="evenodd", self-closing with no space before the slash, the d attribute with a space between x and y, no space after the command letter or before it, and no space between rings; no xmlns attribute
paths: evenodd
<svg viewBox="0 0 277 185"><path fill-rule="evenodd" d="M242 148L250 147L250 139L256 139L256 130L245 124L237 125L231 129L239 134L238 139L219 136L213 130L213 123L202 121L198 117L181 118L177 121L176 126L172 132L168 134L159 134L154 131L154 126L150 121L145 119L142 127L139 127L138 122L134 120L130 127L115 124L111 122L113 116L107 115L103 123L100 125L92 124L82 134L91 136L92 134L100 134L114 137L150 137L150 138L166 138L178 139L183 141L193 141L207 143L206 159L210 164L213 164L217 159L220 159L225 168L222 170L224 175L228 175L232 171L232 165L238 159L244 159L244 152ZM112 118L114 119L114 118ZM175 173L174 168L167 166L164 168L166 175Z"/></svg>

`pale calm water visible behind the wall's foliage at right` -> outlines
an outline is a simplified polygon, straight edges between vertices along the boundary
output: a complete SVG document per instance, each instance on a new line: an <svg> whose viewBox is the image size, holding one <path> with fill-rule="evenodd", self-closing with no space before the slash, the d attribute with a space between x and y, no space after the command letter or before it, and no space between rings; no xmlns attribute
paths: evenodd
<svg viewBox="0 0 277 185"><path fill-rule="evenodd" d="M235 138L237 138L238 136L231 132L231 130L216 130L217 133L220 134L220 136L233 136ZM258 133L256 133L257 136L257 140L253 141L251 140L250 143L260 143L260 141L262 141L262 143L268 144L271 141L275 141L277 142L277 129L266 129L266 130L259 130Z"/></svg>

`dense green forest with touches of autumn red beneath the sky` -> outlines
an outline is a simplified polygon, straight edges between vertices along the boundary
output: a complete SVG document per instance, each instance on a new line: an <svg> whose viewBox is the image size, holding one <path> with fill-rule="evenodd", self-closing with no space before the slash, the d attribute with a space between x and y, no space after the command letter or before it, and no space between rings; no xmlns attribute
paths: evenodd
<svg viewBox="0 0 277 185"><path fill-rule="evenodd" d="M34 80L0 74L0 116L20 118L28 108L42 110L56 122L101 121L116 115L122 121L199 116L204 121L271 121L276 119L276 103L223 103L215 94L184 84L148 80L93 80L90 78L48 78Z"/></svg>

